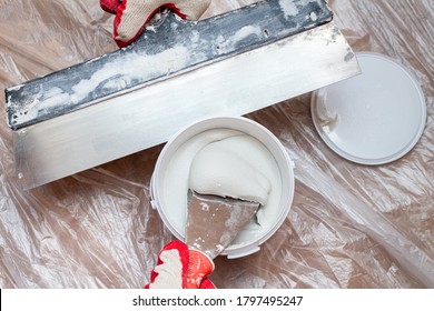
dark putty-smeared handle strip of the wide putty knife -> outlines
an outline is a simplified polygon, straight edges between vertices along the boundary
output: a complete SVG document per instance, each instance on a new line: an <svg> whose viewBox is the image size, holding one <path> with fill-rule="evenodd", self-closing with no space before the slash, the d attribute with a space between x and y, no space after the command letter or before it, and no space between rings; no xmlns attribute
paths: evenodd
<svg viewBox="0 0 434 311"><path fill-rule="evenodd" d="M200 22L166 13L129 47L8 88L8 126L18 130L70 113L332 19L324 0L262 1Z"/></svg>

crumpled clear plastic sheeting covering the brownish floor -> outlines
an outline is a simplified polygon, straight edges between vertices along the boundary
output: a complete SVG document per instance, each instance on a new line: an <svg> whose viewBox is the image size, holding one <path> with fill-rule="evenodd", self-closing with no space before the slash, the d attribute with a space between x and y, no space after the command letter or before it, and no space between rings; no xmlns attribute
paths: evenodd
<svg viewBox="0 0 434 311"><path fill-rule="evenodd" d="M249 2L214 1L207 14ZM295 161L295 198L259 252L216 260L219 288L434 287L434 2L329 4L355 51L387 54L416 77L425 131L404 158L365 167L320 140L310 94L248 114ZM1 88L115 50L111 22L96 0L1 0ZM26 192L0 113L0 287L142 288L174 239L149 203L161 146Z"/></svg>

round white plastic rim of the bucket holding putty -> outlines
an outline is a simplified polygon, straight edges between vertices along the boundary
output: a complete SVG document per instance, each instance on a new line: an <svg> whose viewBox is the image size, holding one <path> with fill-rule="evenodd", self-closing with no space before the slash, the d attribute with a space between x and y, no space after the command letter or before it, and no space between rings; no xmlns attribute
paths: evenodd
<svg viewBox="0 0 434 311"><path fill-rule="evenodd" d="M258 251L259 245L277 231L285 221L294 198L294 162L289 159L282 142L269 130L259 123L243 117L218 117L196 122L176 133L166 143L158 157L150 182L151 205L154 209L157 209L159 215L170 232L177 239L184 241L185 225L179 227L176 225L175 222L179 223L179 221L184 221L185 223L185 220L177 219L177 221L174 221L170 214L170 208L165 204L164 193L167 193L167 191L164 191L165 172L174 154L176 154L177 150L184 143L195 136L211 129L237 130L254 137L273 154L280 173L282 191L279 192L280 198L278 200L278 208L275 209L278 214L273 215L275 221L262 230L260 234L253 234L251 237L247 237L237 243L233 243L221 253L228 258L240 258ZM186 215L187 207L184 212Z"/></svg>

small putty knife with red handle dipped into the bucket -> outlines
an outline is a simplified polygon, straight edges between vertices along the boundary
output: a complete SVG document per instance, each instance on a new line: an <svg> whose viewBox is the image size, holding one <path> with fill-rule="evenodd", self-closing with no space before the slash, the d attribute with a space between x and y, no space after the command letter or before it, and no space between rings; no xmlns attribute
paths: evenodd
<svg viewBox="0 0 434 311"><path fill-rule="evenodd" d="M198 288L214 270L213 260L247 225L258 202L189 191L186 244L190 248L187 288Z"/></svg>

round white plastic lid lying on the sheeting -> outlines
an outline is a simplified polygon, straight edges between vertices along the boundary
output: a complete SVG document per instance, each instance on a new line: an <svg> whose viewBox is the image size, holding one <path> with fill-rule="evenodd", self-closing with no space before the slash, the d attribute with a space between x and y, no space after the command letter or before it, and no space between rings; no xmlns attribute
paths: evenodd
<svg viewBox="0 0 434 311"><path fill-rule="evenodd" d="M324 142L341 157L383 164L406 154L426 122L424 94L393 59L356 53L362 73L313 93L312 117Z"/></svg>

